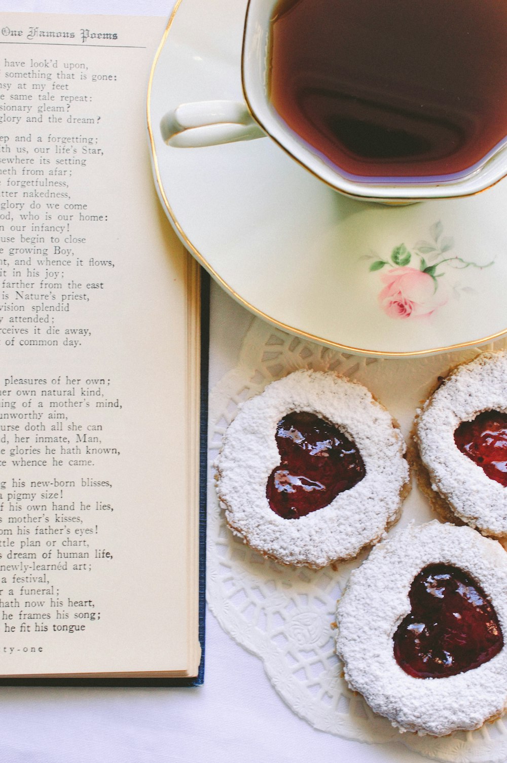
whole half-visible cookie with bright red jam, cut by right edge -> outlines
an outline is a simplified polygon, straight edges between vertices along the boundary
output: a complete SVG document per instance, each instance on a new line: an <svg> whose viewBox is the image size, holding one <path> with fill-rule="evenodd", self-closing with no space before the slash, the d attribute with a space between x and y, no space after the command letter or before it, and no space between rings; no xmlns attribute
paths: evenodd
<svg viewBox="0 0 507 763"><path fill-rule="evenodd" d="M421 488L438 513L507 537L507 353L450 373L418 412L415 442Z"/></svg>

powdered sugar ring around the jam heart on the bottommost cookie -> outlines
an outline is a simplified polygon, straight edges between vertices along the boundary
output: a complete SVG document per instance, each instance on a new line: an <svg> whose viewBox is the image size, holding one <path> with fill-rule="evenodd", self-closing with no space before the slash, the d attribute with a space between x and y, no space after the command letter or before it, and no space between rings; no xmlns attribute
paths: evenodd
<svg viewBox="0 0 507 763"><path fill-rule="evenodd" d="M507 554L470 527L434 520L376 546L350 575L337 604L336 651L347 683L393 726L444 736L477 729L507 708L507 646L479 668L449 678L413 678L397 664L392 636L410 612L409 590L427 565L455 565L495 607L507 636Z"/></svg>

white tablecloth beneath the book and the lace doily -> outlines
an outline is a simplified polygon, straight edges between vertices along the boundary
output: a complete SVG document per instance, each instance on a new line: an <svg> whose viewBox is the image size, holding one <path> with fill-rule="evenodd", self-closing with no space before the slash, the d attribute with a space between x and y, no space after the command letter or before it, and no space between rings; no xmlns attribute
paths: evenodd
<svg viewBox="0 0 507 763"><path fill-rule="evenodd" d="M1 11L156 15L173 0L0 0ZM161 21L162 34L164 22ZM250 314L212 288L210 385L233 368ZM0 687L2 763L418 763L401 745L315 731L289 710L260 661L208 613L205 685L192 689ZM1 672L1 669L0 669Z"/></svg>

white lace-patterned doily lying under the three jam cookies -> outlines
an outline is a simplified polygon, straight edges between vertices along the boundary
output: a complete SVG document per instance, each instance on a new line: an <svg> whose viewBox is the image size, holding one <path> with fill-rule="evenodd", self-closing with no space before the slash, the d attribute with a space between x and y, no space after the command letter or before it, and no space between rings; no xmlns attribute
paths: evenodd
<svg viewBox="0 0 507 763"><path fill-rule="evenodd" d="M496 346L506 344L502 340ZM360 742L399 741L428 758L455 763L504 761L505 720L474 732L434 739L401 734L388 720L372 713L362 697L345 684L331 638L336 600L358 561L341 565L337 571L331 567L313 571L263 559L228 530L218 508L212 464L237 406L295 369L335 370L362 381L399 420L408 438L415 409L438 375L446 375L450 367L477 353L472 349L400 360L357 357L289 336L256 318L237 368L221 379L209 400L207 597L221 626L263 661L276 691L315 728ZM428 501L414 485L398 526L432 517Z"/></svg>

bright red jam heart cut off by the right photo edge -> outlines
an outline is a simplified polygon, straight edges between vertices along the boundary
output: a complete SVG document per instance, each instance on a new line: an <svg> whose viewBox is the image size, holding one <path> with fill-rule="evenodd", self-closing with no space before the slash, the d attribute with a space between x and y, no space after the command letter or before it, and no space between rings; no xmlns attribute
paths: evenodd
<svg viewBox="0 0 507 763"><path fill-rule="evenodd" d="M485 410L473 421L462 421L454 442L490 479L507 488L507 414Z"/></svg>

